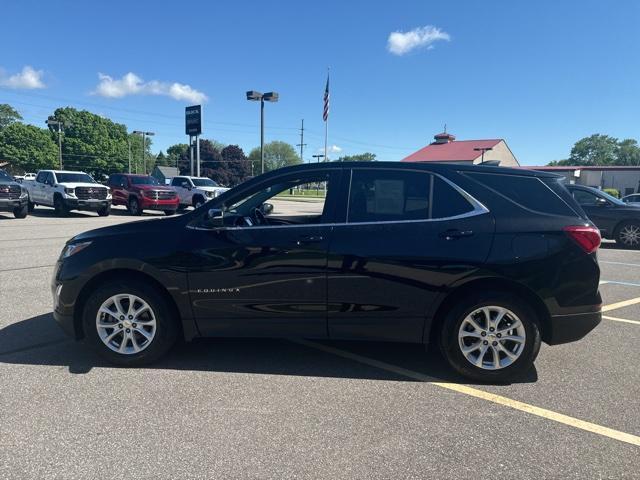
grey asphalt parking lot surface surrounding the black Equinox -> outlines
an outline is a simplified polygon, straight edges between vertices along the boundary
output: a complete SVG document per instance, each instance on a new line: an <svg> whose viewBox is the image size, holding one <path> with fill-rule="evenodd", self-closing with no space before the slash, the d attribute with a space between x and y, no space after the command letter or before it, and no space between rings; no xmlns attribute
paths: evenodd
<svg viewBox="0 0 640 480"><path fill-rule="evenodd" d="M132 220L0 215L0 478L640 478L640 251L603 245L606 318L511 385L381 343L201 340L125 369L64 336L49 282L69 237Z"/></svg>

